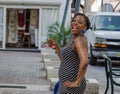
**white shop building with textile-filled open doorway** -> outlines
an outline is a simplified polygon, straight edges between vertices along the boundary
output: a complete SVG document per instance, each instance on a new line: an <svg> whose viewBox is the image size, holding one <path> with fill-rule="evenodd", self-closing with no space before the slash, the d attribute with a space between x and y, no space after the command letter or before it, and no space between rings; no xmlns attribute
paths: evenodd
<svg viewBox="0 0 120 94"><path fill-rule="evenodd" d="M62 22L65 5L66 0L0 0L0 49L20 48L23 32L29 32L31 45L40 50L48 25ZM71 0L65 24L70 16Z"/></svg>

